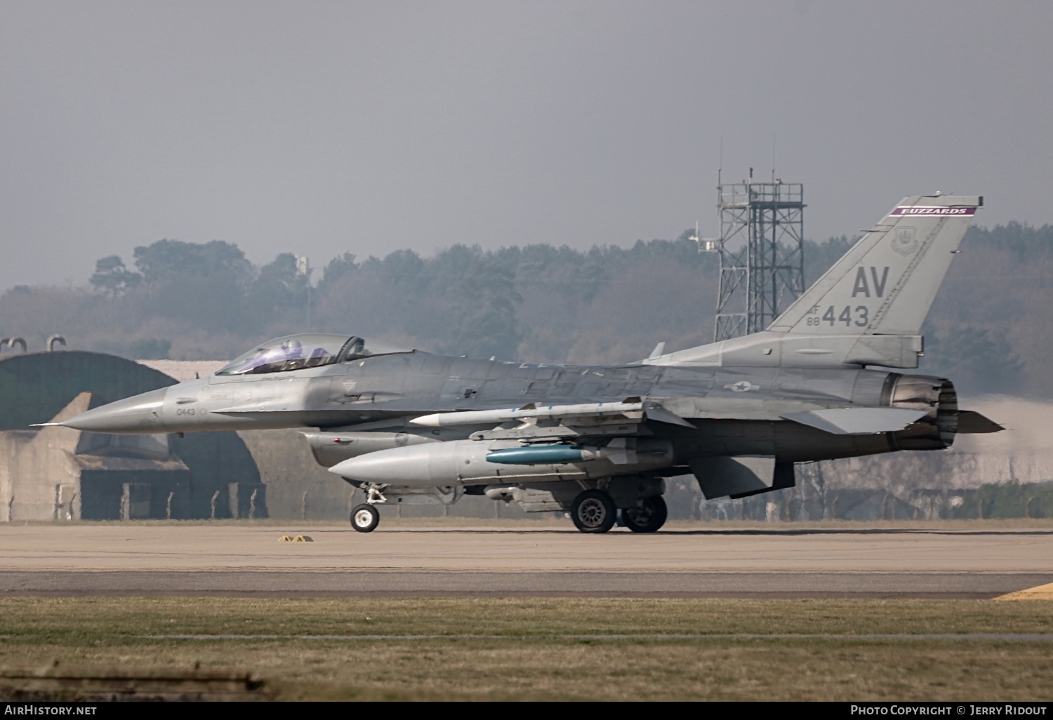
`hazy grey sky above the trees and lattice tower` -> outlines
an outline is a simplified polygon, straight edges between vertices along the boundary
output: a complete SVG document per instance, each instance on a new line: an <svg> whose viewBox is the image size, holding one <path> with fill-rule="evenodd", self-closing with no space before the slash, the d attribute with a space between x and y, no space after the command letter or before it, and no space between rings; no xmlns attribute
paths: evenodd
<svg viewBox="0 0 1053 720"><path fill-rule="evenodd" d="M256 263L716 225L806 183L806 234L901 197L1053 222L1053 3L0 2L0 291L161 238Z"/></svg>

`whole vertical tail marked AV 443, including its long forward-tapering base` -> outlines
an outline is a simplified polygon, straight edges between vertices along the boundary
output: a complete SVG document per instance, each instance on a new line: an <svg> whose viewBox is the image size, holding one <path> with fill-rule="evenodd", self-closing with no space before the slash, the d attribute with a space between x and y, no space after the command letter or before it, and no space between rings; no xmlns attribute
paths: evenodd
<svg viewBox="0 0 1053 720"><path fill-rule="evenodd" d="M642 362L917 367L921 324L982 204L978 196L903 198L767 331Z"/></svg>

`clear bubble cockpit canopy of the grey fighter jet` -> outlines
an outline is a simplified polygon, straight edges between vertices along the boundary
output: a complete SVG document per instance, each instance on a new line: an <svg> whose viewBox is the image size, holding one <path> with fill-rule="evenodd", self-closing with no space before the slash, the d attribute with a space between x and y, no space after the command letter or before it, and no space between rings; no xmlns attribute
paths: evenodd
<svg viewBox="0 0 1053 720"><path fill-rule="evenodd" d="M356 335L286 335L275 338L239 355L216 375L261 375L332 365L374 355L412 353L379 340Z"/></svg>

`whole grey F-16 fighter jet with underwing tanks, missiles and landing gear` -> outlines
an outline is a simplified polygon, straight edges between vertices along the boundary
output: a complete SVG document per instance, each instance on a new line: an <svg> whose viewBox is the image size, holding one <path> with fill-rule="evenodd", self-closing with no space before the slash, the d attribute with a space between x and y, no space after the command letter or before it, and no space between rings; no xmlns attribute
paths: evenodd
<svg viewBox="0 0 1053 720"><path fill-rule="evenodd" d="M304 427L315 458L376 505L463 495L561 511L583 533L665 521L664 478L709 499L792 487L794 463L942 449L1002 429L954 385L910 375L921 323L982 198L905 198L761 333L615 366L445 357L295 335L216 375L60 424L96 433ZM659 346L661 347L661 345Z"/></svg>

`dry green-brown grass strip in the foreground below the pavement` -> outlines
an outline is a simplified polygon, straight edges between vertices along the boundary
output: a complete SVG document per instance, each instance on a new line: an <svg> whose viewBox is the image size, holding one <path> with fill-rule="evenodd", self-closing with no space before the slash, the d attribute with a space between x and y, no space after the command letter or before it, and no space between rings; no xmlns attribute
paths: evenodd
<svg viewBox="0 0 1053 720"><path fill-rule="evenodd" d="M1053 634L1051 601L3 598L0 618L2 666L240 667L276 699L1053 698L1053 643L1005 637ZM991 637L934 637L962 634Z"/></svg>

